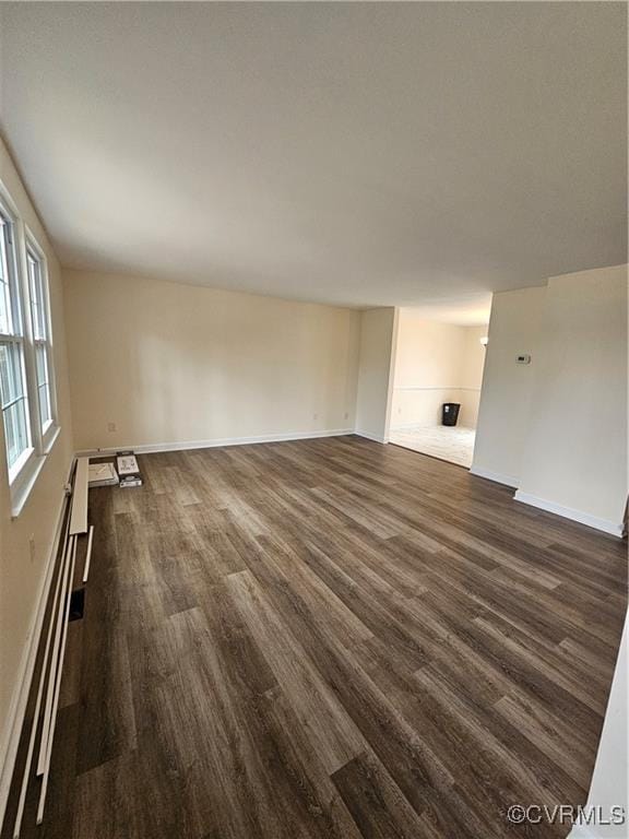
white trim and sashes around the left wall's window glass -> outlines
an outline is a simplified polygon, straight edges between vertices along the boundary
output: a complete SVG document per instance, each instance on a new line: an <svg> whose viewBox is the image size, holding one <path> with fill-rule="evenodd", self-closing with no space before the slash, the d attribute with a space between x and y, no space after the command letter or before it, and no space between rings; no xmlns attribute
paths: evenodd
<svg viewBox="0 0 629 839"><path fill-rule="evenodd" d="M35 235L22 220L10 192L0 180L0 209L11 220L13 226L13 248L15 252L16 294L22 315L22 343L24 347L25 389L28 398L28 425L31 447L22 452L19 460L9 468L7 462L5 480L11 495L11 516L17 518L22 512L33 487L44 468L47 456L52 450L61 432L58 424L57 387L54 363L54 333L50 309L50 285L48 260ZM27 251L37 257L41 270L44 305L47 327L47 362L50 390L50 422L41 430L39 421L39 394L37 392L37 371L35 342L31 309L31 287L28 280ZM1 420L0 420L1 422Z"/></svg>

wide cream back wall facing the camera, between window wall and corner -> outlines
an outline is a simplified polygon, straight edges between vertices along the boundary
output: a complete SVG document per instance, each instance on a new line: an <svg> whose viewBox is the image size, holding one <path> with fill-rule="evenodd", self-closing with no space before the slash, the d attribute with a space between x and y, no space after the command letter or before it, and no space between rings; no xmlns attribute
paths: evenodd
<svg viewBox="0 0 629 839"><path fill-rule="evenodd" d="M79 450L354 429L358 311L142 277L63 280Z"/></svg>

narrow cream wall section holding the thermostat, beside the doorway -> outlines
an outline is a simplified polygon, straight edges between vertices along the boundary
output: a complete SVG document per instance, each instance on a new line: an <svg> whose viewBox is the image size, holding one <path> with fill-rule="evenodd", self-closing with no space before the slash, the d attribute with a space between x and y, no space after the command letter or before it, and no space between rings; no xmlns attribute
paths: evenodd
<svg viewBox="0 0 629 839"><path fill-rule="evenodd" d="M546 288L495 294L472 472L519 486L539 366ZM531 355L530 365L515 356Z"/></svg>

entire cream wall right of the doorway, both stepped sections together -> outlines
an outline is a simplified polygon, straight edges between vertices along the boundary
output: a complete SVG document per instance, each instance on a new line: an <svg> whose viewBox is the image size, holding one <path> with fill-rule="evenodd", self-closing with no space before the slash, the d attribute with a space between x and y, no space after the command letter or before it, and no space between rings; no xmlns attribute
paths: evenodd
<svg viewBox="0 0 629 839"><path fill-rule="evenodd" d="M472 466L613 533L628 495L627 300L626 265L494 296Z"/></svg>

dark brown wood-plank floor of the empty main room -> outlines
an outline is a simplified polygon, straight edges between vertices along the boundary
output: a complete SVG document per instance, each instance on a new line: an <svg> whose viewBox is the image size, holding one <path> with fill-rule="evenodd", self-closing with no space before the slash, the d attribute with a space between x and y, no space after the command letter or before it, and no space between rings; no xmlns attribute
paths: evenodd
<svg viewBox="0 0 629 839"><path fill-rule="evenodd" d="M91 492L46 839L566 836L626 545L356 437L141 458Z"/></svg>

